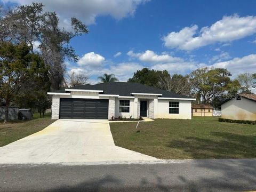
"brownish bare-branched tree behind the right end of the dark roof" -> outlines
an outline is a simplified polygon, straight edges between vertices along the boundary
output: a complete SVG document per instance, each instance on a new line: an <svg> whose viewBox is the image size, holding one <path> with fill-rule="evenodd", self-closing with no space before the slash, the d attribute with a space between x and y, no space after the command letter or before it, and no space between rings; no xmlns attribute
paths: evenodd
<svg viewBox="0 0 256 192"><path fill-rule="evenodd" d="M190 95L191 86L189 82L189 75L174 74L172 76L159 76L157 87L162 90L172 91L177 94Z"/></svg>

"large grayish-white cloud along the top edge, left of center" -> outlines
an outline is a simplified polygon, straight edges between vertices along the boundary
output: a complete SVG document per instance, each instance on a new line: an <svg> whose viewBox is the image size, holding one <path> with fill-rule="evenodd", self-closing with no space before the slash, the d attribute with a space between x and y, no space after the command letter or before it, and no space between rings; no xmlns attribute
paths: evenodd
<svg viewBox="0 0 256 192"><path fill-rule="evenodd" d="M3 0L3 2L21 5L32 3L31 0ZM45 11L55 11L60 17L61 25L69 26L71 17L77 17L86 25L90 25L95 23L95 19L101 15L110 15L117 20L133 16L137 6L148 0L34 0L33 2L43 2Z"/></svg>

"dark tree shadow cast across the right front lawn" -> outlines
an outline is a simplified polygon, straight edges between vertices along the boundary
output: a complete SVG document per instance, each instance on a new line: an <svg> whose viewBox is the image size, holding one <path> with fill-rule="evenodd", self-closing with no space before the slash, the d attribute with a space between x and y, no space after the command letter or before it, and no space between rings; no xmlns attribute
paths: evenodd
<svg viewBox="0 0 256 192"><path fill-rule="evenodd" d="M186 137L169 142L167 147L179 149L190 158L256 157L256 136L228 132L211 132L211 139Z"/></svg>

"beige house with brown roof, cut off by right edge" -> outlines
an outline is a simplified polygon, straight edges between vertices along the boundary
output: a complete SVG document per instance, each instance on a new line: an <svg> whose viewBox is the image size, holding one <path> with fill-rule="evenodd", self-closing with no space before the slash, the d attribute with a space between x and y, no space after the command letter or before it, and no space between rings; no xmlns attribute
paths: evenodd
<svg viewBox="0 0 256 192"><path fill-rule="evenodd" d="M237 94L221 105L221 117L236 120L256 120L256 94Z"/></svg>

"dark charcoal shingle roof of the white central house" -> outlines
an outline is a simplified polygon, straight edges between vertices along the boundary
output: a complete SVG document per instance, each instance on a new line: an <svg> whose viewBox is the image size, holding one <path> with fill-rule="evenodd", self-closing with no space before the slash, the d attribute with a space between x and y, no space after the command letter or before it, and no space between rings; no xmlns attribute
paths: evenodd
<svg viewBox="0 0 256 192"><path fill-rule="evenodd" d="M120 96L131 96L131 93L153 93L153 94L162 94L164 98L191 98L186 95L180 95L173 92L165 91L158 89L153 86L142 85L140 83L127 83L127 82L109 82L109 83L100 83L95 85L81 85L72 87L69 89L81 89L81 90L103 90L103 93L100 94L118 94ZM52 91L57 92L57 91ZM61 90L63 92L63 90Z"/></svg>

